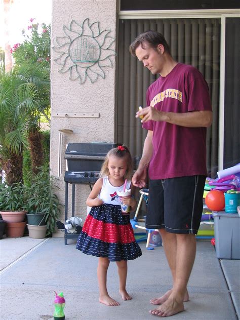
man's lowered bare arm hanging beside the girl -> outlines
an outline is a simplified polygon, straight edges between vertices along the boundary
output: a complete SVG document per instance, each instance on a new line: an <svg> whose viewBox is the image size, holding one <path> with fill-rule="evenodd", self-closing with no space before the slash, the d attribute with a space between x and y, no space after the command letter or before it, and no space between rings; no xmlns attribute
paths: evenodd
<svg viewBox="0 0 240 320"><path fill-rule="evenodd" d="M133 185L139 188L143 188L146 185L147 169L152 156L152 135L153 132L148 130L144 141L142 157L139 162L138 169L132 178Z"/></svg>

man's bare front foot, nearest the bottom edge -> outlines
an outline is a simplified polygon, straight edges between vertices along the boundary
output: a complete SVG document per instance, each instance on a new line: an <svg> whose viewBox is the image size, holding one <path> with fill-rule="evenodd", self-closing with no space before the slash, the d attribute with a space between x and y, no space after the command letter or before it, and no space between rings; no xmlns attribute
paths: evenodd
<svg viewBox="0 0 240 320"><path fill-rule="evenodd" d="M149 312L157 316L170 316L183 310L183 302L178 302L176 299L170 297L164 304Z"/></svg>

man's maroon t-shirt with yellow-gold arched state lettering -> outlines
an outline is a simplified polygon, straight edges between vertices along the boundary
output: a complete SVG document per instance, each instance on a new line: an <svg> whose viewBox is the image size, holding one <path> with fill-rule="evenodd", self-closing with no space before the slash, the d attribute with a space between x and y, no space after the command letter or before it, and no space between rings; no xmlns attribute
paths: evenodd
<svg viewBox="0 0 240 320"><path fill-rule="evenodd" d="M212 110L203 75L196 68L182 63L148 88L146 103L166 112ZM187 128L156 121L144 123L143 128L153 131L150 179L207 175L206 128Z"/></svg>

